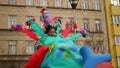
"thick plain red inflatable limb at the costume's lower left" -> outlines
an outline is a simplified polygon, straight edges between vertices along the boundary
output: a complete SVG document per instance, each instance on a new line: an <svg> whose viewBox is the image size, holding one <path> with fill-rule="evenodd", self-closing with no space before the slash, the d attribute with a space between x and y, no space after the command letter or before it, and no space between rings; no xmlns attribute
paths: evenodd
<svg viewBox="0 0 120 68"><path fill-rule="evenodd" d="M40 65L48 52L48 47L45 45L40 45L39 49L30 57L25 68L40 68Z"/></svg>

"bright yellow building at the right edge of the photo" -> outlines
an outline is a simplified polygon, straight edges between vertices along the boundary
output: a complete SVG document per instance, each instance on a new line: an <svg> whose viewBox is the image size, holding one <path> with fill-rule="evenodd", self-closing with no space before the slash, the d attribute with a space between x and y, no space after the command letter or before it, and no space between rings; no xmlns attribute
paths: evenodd
<svg viewBox="0 0 120 68"><path fill-rule="evenodd" d="M112 63L120 68L120 0L106 0L105 4Z"/></svg>

